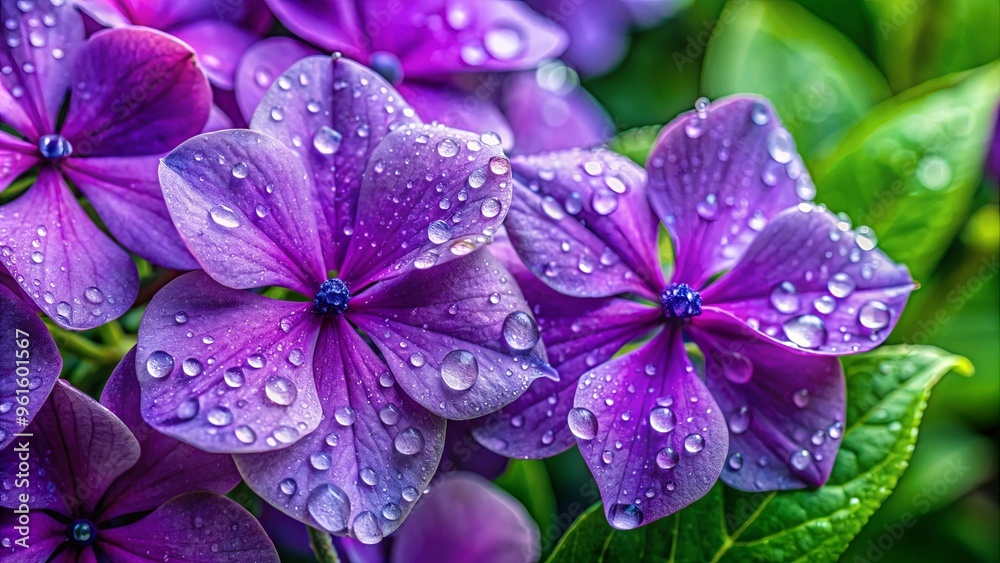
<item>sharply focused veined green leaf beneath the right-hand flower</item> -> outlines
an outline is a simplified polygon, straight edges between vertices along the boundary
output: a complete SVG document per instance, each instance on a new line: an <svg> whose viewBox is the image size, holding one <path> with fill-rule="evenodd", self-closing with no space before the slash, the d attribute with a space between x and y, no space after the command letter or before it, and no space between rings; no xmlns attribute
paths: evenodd
<svg viewBox="0 0 1000 563"><path fill-rule="evenodd" d="M829 482L815 490L745 493L717 484L688 508L630 531L600 504L566 533L550 563L574 561L835 561L906 468L931 388L968 360L892 346L844 358L847 420Z"/></svg>

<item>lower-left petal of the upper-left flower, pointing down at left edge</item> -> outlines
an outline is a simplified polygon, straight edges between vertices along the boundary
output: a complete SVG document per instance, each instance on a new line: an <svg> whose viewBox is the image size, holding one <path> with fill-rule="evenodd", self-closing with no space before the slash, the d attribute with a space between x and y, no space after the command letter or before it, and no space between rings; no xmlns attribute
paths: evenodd
<svg viewBox="0 0 1000 563"><path fill-rule="evenodd" d="M132 258L91 222L54 168L43 167L34 186L0 207L0 241L11 277L60 326L100 326L135 301Z"/></svg>

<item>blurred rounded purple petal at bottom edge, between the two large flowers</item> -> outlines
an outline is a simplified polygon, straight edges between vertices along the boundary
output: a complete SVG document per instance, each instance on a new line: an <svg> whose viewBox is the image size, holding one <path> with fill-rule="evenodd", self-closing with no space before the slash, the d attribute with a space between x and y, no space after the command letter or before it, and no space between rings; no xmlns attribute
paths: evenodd
<svg viewBox="0 0 1000 563"><path fill-rule="evenodd" d="M510 495L470 473L434 482L392 543L391 561L537 561L538 526Z"/></svg>

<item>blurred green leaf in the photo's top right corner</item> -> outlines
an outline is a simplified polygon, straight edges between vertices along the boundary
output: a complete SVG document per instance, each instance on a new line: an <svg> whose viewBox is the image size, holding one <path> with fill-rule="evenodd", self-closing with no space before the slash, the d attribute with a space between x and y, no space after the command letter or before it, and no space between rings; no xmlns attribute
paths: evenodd
<svg viewBox="0 0 1000 563"><path fill-rule="evenodd" d="M876 58L897 92L1000 57L998 2L868 0L868 9Z"/></svg>

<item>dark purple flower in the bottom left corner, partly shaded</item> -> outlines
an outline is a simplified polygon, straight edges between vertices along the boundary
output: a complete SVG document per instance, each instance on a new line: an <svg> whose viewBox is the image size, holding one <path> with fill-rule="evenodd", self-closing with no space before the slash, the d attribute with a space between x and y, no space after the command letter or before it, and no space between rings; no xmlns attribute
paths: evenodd
<svg viewBox="0 0 1000 563"><path fill-rule="evenodd" d="M221 496L240 480L232 459L143 422L134 365L133 351L100 404L59 381L0 453L4 561L277 561L260 524Z"/></svg>

